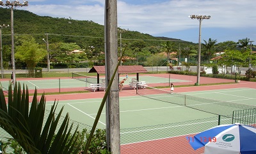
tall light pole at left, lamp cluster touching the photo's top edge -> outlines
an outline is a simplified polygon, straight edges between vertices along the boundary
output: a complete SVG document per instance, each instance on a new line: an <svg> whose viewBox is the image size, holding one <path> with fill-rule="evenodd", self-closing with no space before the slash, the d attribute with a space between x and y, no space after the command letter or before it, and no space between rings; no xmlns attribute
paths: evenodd
<svg viewBox="0 0 256 154"><path fill-rule="evenodd" d="M14 58L14 31L13 31L13 8L17 8L18 6L28 6L28 1L24 1L24 3L20 3L19 1L6 1L4 4L3 1L0 1L1 6L8 6L11 9L11 35L12 35L12 72L13 72L13 83L16 81L15 75L15 58Z"/></svg>

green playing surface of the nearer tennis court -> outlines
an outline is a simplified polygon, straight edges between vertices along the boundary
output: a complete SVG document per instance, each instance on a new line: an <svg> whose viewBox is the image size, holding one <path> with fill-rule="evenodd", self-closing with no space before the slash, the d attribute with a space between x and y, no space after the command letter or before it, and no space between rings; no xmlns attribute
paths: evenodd
<svg viewBox="0 0 256 154"><path fill-rule="evenodd" d="M144 90L144 89L142 89ZM196 91L191 93L186 93L186 95L200 96L201 98L214 98L216 101L224 103L223 100L228 102L234 102L234 104L245 104L245 105L256 105L256 95L254 95L256 89L250 88L236 88L236 89L222 89L222 90L211 90L211 91ZM170 99L173 98L173 95L169 96ZM85 123L86 125L93 125L93 121L96 117L97 111L101 99L85 99L85 100L66 100L59 102L59 109L62 105L65 105L65 112L70 113L70 119L75 121ZM203 99L204 100L204 99ZM47 109L51 108L53 102L47 102ZM208 106L199 102L198 104L193 104L196 106L204 106L204 109L209 110L214 107L224 107L223 105L214 105L212 102L207 103ZM225 106L227 107L227 106ZM232 108L232 106L228 106ZM256 106L255 106L256 107ZM239 109L234 107L234 109ZM218 111L218 109L215 109ZM232 114L228 112L227 114ZM209 120L196 121L193 123L193 126L196 128L196 131L205 130L205 123L209 121L216 121L218 123L218 118L216 114L211 114L209 112L203 112L191 107L186 107L184 105L177 105L167 102L162 102L159 100L154 100L144 96L126 96L120 98L120 128L121 128L121 143L127 144L131 142L140 142L153 139L162 139L165 137L185 135L195 132L189 132L187 130L187 121L209 118ZM105 109L102 111L100 116L98 128L106 127L106 117ZM230 118L224 118L224 123L230 123ZM170 123L179 123L179 125L166 125ZM223 124L223 123L222 123ZM191 125L191 124L189 124ZM207 125L209 127L209 125ZM189 126L191 127L191 126ZM211 127L211 126L210 126ZM213 126L212 126L213 127ZM175 129L175 134L170 134L164 129ZM161 131L160 131L161 130ZM160 131L160 132L158 132ZM145 135L138 135L145 134ZM148 135L152 134L152 135ZM136 136L143 136L142 138L136 138ZM125 137L125 141L122 138ZM129 138L129 139L127 139Z"/></svg>

